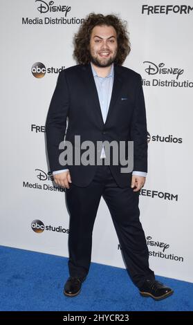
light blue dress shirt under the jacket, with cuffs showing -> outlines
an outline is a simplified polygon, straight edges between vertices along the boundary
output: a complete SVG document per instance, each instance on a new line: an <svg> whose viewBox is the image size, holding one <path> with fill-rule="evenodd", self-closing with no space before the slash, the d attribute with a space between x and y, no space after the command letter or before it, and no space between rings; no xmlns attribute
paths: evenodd
<svg viewBox="0 0 193 325"><path fill-rule="evenodd" d="M107 119L107 113L109 110L109 104L111 101L111 94L112 94L112 89L113 89L113 80L114 80L114 65L111 65L111 71L106 77L99 77L98 74L96 73L93 64L91 64L92 72L93 72L93 77L95 80L95 85L98 91L98 98L100 102L100 109L102 112L102 118L105 123ZM104 153L104 147L102 147L102 152L100 158L105 158L105 153ZM68 171L68 169L61 169L57 171L53 171L53 175L62 173L63 171ZM147 176L147 173L143 171L133 171L133 175L138 175L138 176Z"/></svg>

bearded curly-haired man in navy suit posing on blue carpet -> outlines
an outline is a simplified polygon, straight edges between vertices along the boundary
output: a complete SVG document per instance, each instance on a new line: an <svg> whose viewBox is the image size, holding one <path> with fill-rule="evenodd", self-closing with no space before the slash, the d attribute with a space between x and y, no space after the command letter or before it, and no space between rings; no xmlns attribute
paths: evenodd
<svg viewBox="0 0 193 325"><path fill-rule="evenodd" d="M147 125L141 77L122 67L129 45L127 30L118 17L93 13L86 17L75 35L74 55L79 64L59 73L48 111L50 170L55 183L66 188L70 213L70 277L64 294L71 297L80 293L89 272L93 225L101 196L109 207L127 270L140 294L159 300L173 293L156 281L149 269L149 253L139 220L139 191L147 174ZM59 143L64 143L65 131L65 141L70 141L75 151L75 136L80 136L81 143L93 142L94 154L98 154L97 142L133 141L133 172L122 173L121 162L113 164L111 155L106 165L104 145L100 164L61 164Z"/></svg>

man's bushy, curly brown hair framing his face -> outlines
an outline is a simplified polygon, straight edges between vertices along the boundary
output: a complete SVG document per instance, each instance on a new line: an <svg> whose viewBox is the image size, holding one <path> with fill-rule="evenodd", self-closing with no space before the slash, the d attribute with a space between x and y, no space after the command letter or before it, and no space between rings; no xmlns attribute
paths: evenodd
<svg viewBox="0 0 193 325"><path fill-rule="evenodd" d="M118 52L114 63L122 65L131 50L126 23L116 15L104 16L102 14L95 14L94 12L86 16L80 29L75 34L75 49L73 56L77 59L77 62L79 64L89 64L89 62L91 62L89 44L91 32L95 26L113 26L113 28L115 28L117 33Z"/></svg>

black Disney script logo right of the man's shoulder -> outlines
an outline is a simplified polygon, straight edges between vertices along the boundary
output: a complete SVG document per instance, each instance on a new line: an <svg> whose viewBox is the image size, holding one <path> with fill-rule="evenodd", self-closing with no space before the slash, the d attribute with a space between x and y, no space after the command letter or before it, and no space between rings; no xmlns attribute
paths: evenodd
<svg viewBox="0 0 193 325"><path fill-rule="evenodd" d="M178 80L178 77L183 74L184 70L181 68L163 68L165 66L164 63L158 64L158 66L149 61L144 61L143 63L149 64L149 66L145 69L145 72L147 72L148 75L156 75L156 73L159 73L160 75L176 75L176 80Z"/></svg>

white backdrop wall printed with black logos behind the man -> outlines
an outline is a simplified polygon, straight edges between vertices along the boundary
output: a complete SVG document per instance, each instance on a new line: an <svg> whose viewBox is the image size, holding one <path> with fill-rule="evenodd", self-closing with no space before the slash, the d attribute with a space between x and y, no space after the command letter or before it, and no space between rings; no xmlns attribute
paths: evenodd
<svg viewBox="0 0 193 325"><path fill-rule="evenodd" d="M68 257L65 195L52 190L47 174L44 124L59 68L75 64L72 39L81 19L89 12L115 13L128 22L131 37L124 65L144 84L149 172L140 219L150 266L157 275L193 282L192 1L151 0L144 12L142 0L48 3L1 0L0 244ZM54 6L67 11L50 11ZM45 66L43 77L31 72L37 62ZM92 261L125 267L103 200Z"/></svg>

